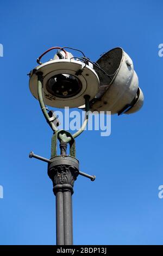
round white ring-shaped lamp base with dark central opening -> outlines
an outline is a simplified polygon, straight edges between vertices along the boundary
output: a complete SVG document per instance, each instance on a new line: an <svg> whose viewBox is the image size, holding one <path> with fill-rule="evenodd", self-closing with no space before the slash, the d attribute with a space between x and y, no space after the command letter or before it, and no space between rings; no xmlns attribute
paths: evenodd
<svg viewBox="0 0 163 256"><path fill-rule="evenodd" d="M89 95L92 100L98 93L99 78L96 71L89 63L74 59L71 53L67 52L65 59L65 53L60 51L30 73L29 88L36 99L37 72L42 72L43 94L48 106L79 107L85 103L84 95Z"/></svg>

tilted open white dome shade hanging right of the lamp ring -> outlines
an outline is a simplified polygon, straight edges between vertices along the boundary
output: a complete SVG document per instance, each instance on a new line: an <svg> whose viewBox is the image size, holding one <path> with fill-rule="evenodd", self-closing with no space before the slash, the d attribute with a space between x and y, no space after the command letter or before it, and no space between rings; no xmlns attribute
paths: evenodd
<svg viewBox="0 0 163 256"><path fill-rule="evenodd" d="M96 63L110 76L94 66L99 77L99 90L91 101L91 110L111 111L111 114L139 111L143 105L143 93L128 54L117 47L106 52Z"/></svg>

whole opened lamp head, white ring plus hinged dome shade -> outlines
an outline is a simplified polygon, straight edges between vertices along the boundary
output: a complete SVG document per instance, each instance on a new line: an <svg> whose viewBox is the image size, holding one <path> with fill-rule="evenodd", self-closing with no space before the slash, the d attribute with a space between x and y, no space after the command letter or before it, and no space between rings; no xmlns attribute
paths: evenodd
<svg viewBox="0 0 163 256"><path fill-rule="evenodd" d="M53 48L60 50L53 59L41 63L40 58ZM122 48L106 52L96 63L86 57L74 58L64 48L52 47L37 59L40 65L30 72L29 80L30 92L36 99L37 73L41 72L43 96L48 106L85 109L84 95L89 95L91 111L111 111L118 115L139 111L143 93L133 62Z"/></svg>

